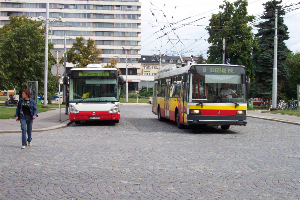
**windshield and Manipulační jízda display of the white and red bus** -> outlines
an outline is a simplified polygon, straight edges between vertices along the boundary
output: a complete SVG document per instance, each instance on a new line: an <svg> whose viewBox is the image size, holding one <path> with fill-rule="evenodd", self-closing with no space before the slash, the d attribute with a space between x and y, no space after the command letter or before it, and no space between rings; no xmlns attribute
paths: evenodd
<svg viewBox="0 0 300 200"><path fill-rule="evenodd" d="M116 71L73 71L70 79L70 102L119 101Z"/></svg>

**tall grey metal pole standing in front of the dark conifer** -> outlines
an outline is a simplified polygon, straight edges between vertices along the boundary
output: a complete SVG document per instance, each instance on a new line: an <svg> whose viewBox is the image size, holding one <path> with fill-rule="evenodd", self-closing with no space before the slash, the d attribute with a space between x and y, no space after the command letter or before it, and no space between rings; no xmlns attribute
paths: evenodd
<svg viewBox="0 0 300 200"><path fill-rule="evenodd" d="M277 104L277 9L275 10L275 36L274 36L274 66L273 66L273 85L272 85L272 108Z"/></svg>

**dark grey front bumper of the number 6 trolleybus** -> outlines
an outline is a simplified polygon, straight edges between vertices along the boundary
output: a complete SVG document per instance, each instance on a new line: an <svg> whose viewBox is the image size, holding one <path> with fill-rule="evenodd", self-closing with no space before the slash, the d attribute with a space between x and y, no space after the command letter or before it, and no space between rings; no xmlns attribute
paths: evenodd
<svg viewBox="0 0 300 200"><path fill-rule="evenodd" d="M246 115L187 115L187 125L238 125L246 126Z"/></svg>

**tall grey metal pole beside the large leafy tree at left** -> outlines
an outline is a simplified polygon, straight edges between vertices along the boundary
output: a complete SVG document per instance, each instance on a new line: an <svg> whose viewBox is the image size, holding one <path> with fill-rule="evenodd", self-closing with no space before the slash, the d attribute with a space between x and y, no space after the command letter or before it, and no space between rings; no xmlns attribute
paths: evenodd
<svg viewBox="0 0 300 200"><path fill-rule="evenodd" d="M44 76L44 105L47 105L48 95L48 31L49 31L49 3L46 3L46 31L45 31L45 76Z"/></svg>

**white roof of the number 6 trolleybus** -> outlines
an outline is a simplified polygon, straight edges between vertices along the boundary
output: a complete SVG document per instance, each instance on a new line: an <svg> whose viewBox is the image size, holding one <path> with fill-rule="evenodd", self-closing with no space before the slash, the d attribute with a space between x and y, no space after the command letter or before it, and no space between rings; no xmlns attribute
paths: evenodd
<svg viewBox="0 0 300 200"><path fill-rule="evenodd" d="M180 67L180 68L177 68L177 69L174 69L173 68L174 66L170 66L170 67L172 67L173 70L166 71L166 72L163 72L161 74L156 74L154 76L154 80L162 79L162 78L167 78L167 77L171 77L171 76L176 76L176 75L179 75L179 74L183 74L183 72L187 72L188 70L190 70L191 66L231 66L231 67L243 67L243 68L245 68L245 66L242 66L242 65L221 65L221 64L196 64L196 65L187 65L187 66Z"/></svg>

